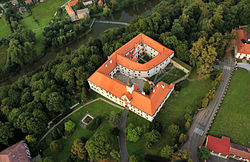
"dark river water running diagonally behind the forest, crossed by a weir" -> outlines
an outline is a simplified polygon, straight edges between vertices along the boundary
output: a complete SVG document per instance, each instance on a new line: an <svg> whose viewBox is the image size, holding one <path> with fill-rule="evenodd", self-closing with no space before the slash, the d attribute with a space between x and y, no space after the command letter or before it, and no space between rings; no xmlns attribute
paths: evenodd
<svg viewBox="0 0 250 162"><path fill-rule="evenodd" d="M134 18L138 16L147 16L152 13L154 7L160 2L160 0L152 0L147 1L144 4L135 5L132 7L125 8L121 11L117 11L113 13L110 17L98 17L97 20L108 20L108 21L120 21L120 22L130 22ZM101 33L103 33L105 30L113 27L123 27L123 25L114 25L114 24L102 24L102 23L95 23L92 27L92 31L85 36L82 39L76 40L76 42L69 45L69 47L73 49L79 48L82 44L84 44L89 37L99 37ZM20 72L18 72L15 76L9 77L9 79L5 82L0 83L0 86L10 84L16 80L18 80L19 77L36 71L39 69L43 64L45 64L48 61L53 60L58 54L65 51L65 48L62 48L58 52L48 52L43 58L41 58L39 61L35 62L32 65L28 65L27 67L23 68Z"/></svg>

